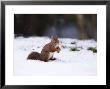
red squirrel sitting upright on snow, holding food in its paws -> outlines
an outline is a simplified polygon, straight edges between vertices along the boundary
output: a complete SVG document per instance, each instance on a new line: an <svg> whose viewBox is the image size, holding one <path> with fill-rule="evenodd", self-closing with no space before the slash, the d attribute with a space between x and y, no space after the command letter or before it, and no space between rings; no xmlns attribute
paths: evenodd
<svg viewBox="0 0 110 89"><path fill-rule="evenodd" d="M55 58L53 58L53 54L54 52L60 52L60 47L59 47L59 40L58 37L54 36L51 39L51 42L49 42L48 44L46 44L41 53L38 52L31 52L27 59L31 59L31 60L41 60L44 62L47 62L49 60L55 60Z"/></svg>

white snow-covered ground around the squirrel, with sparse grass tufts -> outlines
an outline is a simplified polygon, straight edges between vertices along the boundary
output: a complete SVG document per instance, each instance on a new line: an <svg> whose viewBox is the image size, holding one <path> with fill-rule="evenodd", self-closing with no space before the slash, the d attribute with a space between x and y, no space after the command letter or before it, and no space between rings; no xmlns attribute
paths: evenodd
<svg viewBox="0 0 110 89"><path fill-rule="evenodd" d="M57 60L43 62L40 60L27 60L32 51L40 52L42 47L50 42L48 37L16 37L14 38L14 75L97 75L97 53L87 50L96 47L95 40L77 40L59 38L60 53L55 53ZM71 51L77 47L80 51Z"/></svg>

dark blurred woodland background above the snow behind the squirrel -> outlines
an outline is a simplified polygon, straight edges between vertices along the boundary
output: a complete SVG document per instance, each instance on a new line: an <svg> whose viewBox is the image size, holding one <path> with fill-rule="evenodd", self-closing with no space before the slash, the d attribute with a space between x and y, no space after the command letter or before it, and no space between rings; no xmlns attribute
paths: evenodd
<svg viewBox="0 0 110 89"><path fill-rule="evenodd" d="M97 39L97 14L15 14L14 34Z"/></svg>

